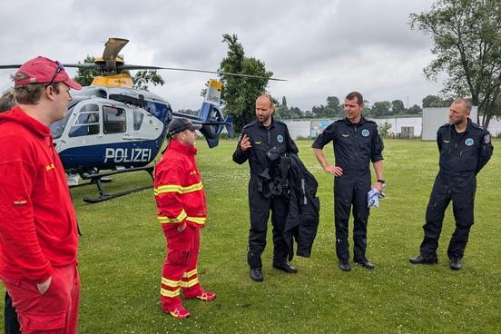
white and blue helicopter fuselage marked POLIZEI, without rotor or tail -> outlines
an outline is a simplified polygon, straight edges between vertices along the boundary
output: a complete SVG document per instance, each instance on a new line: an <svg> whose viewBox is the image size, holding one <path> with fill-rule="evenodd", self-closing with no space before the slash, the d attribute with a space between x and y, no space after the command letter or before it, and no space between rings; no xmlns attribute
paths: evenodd
<svg viewBox="0 0 501 334"><path fill-rule="evenodd" d="M89 86L74 94L64 119L51 128L64 168L85 172L152 162L171 119L170 104L156 94Z"/></svg>

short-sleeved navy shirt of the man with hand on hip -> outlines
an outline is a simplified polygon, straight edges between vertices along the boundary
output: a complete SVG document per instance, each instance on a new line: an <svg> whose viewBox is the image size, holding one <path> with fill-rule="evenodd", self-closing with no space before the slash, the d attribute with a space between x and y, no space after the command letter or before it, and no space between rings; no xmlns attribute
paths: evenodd
<svg viewBox="0 0 501 334"><path fill-rule="evenodd" d="M363 116L359 123L351 123L345 117L330 124L311 147L323 149L329 142L334 146L335 164L343 173L368 172L369 162L383 160L384 144L378 134L378 124Z"/></svg>

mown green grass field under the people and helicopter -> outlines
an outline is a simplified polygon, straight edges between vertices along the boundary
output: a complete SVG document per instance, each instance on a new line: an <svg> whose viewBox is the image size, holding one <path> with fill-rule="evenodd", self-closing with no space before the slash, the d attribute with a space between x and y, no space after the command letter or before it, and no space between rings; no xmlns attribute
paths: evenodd
<svg viewBox="0 0 501 334"><path fill-rule="evenodd" d="M332 178L319 168L309 141L300 158L319 181L319 234L312 257L295 257L300 272L271 268L272 242L263 254L264 282L249 278L249 167L231 161L235 142L207 149L199 139L199 167L209 202L201 233L199 274L211 303L184 302L192 317L162 314L159 285L165 245L152 191L86 204L95 189L74 190L80 228L82 302L80 333L500 333L501 141L478 175L476 224L464 269L450 270L447 243L454 220L449 208L438 265L413 266L428 195L437 173L435 142L387 140L387 197L368 222L368 259L375 270L338 269L334 253ZM326 148L332 158L332 149ZM146 173L118 175L107 190L150 182ZM351 230L350 221L350 230ZM352 242L350 242L352 243ZM3 292L0 291L0 292ZM3 319L0 320L0 324Z"/></svg>

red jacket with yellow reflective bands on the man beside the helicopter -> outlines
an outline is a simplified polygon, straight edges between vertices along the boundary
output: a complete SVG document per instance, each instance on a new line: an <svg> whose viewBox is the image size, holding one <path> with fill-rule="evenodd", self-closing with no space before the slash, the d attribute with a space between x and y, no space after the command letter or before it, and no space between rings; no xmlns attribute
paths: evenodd
<svg viewBox="0 0 501 334"><path fill-rule="evenodd" d="M197 228L205 224L207 206L196 153L195 147L171 139L155 166L154 194L163 229L182 222Z"/></svg>

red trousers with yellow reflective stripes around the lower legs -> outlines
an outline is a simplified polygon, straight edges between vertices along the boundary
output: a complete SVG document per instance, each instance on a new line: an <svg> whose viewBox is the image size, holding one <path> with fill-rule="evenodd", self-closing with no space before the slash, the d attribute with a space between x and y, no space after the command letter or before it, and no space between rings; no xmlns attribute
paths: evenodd
<svg viewBox="0 0 501 334"><path fill-rule="evenodd" d="M181 305L179 293L191 299L201 293L198 281L197 260L200 249L200 229L186 225L179 232L175 228L164 230L167 240L167 257L163 262L160 300L162 309L169 312Z"/></svg>

